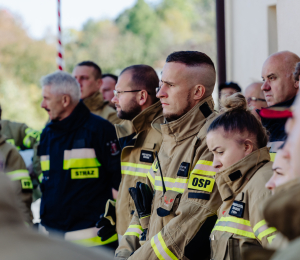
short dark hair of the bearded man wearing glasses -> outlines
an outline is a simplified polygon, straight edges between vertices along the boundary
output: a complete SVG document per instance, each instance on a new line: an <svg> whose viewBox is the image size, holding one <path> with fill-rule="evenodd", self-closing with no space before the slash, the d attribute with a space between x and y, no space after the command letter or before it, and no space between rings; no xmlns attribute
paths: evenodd
<svg viewBox="0 0 300 260"><path fill-rule="evenodd" d="M125 72L131 73L132 89L146 90L151 97L152 103L158 101L156 88L159 87L159 78L152 67L144 64L133 65L125 68L120 75Z"/></svg>

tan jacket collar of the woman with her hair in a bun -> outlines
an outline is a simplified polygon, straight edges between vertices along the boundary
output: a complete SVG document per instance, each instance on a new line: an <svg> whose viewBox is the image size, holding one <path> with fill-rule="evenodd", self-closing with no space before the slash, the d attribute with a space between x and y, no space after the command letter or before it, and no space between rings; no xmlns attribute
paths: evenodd
<svg viewBox="0 0 300 260"><path fill-rule="evenodd" d="M269 149L264 147L252 152L227 169L217 172L216 183L222 200L225 201L237 195L254 173L268 161L270 161Z"/></svg>

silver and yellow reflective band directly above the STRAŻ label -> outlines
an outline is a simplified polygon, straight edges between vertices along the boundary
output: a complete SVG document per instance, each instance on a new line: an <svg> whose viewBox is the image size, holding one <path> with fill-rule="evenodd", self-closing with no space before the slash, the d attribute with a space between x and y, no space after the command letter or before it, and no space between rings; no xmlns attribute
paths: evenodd
<svg viewBox="0 0 300 260"><path fill-rule="evenodd" d="M99 166L101 166L101 164L96 158L96 153L93 148L65 150L64 152L64 170Z"/></svg>

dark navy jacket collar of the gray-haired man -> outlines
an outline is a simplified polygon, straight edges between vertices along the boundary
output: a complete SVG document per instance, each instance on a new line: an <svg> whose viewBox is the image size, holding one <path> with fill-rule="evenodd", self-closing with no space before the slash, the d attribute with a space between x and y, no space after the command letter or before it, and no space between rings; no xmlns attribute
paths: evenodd
<svg viewBox="0 0 300 260"><path fill-rule="evenodd" d="M84 124L89 115L89 109L81 100L68 117L61 121L51 121L47 126L56 131L69 132Z"/></svg>

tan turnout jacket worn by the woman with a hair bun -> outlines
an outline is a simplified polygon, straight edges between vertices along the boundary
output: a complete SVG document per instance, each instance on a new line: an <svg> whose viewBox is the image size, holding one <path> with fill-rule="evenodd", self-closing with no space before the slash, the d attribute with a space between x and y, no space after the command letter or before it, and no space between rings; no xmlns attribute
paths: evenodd
<svg viewBox="0 0 300 260"><path fill-rule="evenodd" d="M266 247L275 237L259 205L271 192L265 184L272 176L269 149L261 148L216 174L223 204L211 233L211 259L238 260L251 248Z"/></svg>

